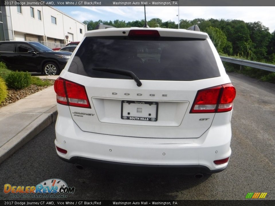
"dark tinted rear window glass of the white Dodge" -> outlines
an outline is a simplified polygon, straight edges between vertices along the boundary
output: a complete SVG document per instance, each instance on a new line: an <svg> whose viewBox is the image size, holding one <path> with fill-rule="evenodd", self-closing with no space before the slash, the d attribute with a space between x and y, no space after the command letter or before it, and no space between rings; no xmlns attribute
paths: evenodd
<svg viewBox="0 0 275 206"><path fill-rule="evenodd" d="M86 37L69 72L94 78L131 79L93 68L133 72L140 80L192 81L220 76L206 39Z"/></svg>

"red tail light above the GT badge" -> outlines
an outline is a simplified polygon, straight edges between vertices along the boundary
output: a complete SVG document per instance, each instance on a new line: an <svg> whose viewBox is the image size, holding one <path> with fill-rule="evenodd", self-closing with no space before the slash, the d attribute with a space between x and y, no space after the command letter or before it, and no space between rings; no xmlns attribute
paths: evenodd
<svg viewBox="0 0 275 206"><path fill-rule="evenodd" d="M235 96L236 90L231 83L199 90L190 113L231 111Z"/></svg>

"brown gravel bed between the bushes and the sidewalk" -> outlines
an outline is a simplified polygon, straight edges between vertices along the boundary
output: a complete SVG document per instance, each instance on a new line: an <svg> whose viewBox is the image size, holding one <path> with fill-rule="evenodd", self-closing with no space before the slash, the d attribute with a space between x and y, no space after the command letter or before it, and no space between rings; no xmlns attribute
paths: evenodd
<svg viewBox="0 0 275 206"><path fill-rule="evenodd" d="M52 82L52 85L54 84L54 80L49 80L49 81ZM21 89L21 90L8 89L8 95L5 99L5 101L0 103L0 108L3 107L3 106L6 106L8 104L11 104L13 102L16 102L19 99L23 99L26 96L29 96L31 94L34 94L34 93L39 92L41 90L44 90L47 87L49 87L49 86L30 85L30 86L28 86L24 89Z"/></svg>

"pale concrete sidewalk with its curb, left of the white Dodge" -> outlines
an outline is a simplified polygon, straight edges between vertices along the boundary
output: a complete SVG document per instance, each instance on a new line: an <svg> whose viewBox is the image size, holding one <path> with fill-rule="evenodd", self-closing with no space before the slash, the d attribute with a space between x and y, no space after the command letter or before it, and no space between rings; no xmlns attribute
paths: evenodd
<svg viewBox="0 0 275 206"><path fill-rule="evenodd" d="M46 78L46 76L38 76ZM57 79L58 76L47 76ZM54 86L0 108L0 163L57 118Z"/></svg>

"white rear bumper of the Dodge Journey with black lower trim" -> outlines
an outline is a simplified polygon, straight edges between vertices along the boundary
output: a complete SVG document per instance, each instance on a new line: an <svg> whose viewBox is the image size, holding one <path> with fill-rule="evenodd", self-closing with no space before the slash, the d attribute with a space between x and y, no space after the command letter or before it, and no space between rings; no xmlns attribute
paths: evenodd
<svg viewBox="0 0 275 206"><path fill-rule="evenodd" d="M62 106L62 109L68 110L68 107ZM216 173L224 170L228 162L215 165L213 161L231 155L229 119L228 124L224 124L221 118L215 117L212 126L199 138L141 138L84 132L72 120L69 110L61 113L68 116L58 114L55 145L67 153L56 152L61 159L79 165Z"/></svg>

